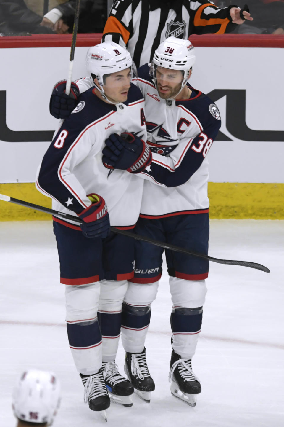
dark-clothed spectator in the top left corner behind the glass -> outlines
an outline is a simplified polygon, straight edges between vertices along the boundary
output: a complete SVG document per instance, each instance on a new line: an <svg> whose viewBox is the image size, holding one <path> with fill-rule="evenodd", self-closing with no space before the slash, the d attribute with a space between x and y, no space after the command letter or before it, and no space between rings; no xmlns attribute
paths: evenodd
<svg viewBox="0 0 284 427"><path fill-rule="evenodd" d="M24 0L0 0L0 33L17 35L21 32L52 34L52 29L40 26L42 18L26 6Z"/></svg>

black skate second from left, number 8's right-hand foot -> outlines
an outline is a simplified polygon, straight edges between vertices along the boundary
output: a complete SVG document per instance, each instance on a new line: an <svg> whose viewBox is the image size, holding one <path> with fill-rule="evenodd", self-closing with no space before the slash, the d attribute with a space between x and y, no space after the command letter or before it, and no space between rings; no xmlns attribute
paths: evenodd
<svg viewBox="0 0 284 427"><path fill-rule="evenodd" d="M134 393L134 389L129 380L120 375L117 364L115 362L103 362L102 370L110 400L131 407L133 402L130 396Z"/></svg>

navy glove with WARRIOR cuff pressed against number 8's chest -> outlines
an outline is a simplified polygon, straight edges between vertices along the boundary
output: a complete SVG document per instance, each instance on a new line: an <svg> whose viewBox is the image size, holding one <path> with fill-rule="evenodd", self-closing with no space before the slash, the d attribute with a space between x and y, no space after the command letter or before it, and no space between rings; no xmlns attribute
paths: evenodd
<svg viewBox="0 0 284 427"><path fill-rule="evenodd" d="M132 133L111 134L105 143L103 164L109 169L139 173L152 161L149 145Z"/></svg>

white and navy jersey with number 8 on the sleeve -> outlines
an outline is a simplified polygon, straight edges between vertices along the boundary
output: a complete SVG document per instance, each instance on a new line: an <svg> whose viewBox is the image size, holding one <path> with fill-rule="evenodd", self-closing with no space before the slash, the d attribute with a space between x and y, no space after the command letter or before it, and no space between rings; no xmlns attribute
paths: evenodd
<svg viewBox="0 0 284 427"><path fill-rule="evenodd" d="M52 197L53 209L71 215L80 213L91 205L87 194L97 193L106 201L112 226L135 225L143 180L126 171L104 167L102 149L112 133L133 132L146 140L146 126L141 124L141 91L132 84L127 102L120 106L103 102L92 87L80 94L77 107L60 126L37 175L37 189Z"/></svg>

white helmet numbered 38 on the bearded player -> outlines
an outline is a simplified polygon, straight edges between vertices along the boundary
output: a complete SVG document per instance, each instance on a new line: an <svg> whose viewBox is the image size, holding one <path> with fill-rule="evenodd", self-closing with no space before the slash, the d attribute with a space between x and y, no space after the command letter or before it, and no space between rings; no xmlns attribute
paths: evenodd
<svg viewBox="0 0 284 427"><path fill-rule="evenodd" d="M194 47L189 40L181 38L168 37L155 50L152 59L150 74L154 77L155 87L157 89L156 69L158 66L169 68L171 70L181 70L184 73L184 79L181 83L181 90L186 85L190 69L195 63Z"/></svg>

